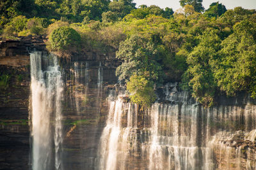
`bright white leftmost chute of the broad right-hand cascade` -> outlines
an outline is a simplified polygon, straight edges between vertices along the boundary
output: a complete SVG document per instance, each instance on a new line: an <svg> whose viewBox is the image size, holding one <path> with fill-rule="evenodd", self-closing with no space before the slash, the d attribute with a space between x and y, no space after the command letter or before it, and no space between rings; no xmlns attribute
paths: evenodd
<svg viewBox="0 0 256 170"><path fill-rule="evenodd" d="M98 169L127 169L129 152L136 150L137 110L135 104L124 103L122 96L109 101L108 120L100 138Z"/></svg>

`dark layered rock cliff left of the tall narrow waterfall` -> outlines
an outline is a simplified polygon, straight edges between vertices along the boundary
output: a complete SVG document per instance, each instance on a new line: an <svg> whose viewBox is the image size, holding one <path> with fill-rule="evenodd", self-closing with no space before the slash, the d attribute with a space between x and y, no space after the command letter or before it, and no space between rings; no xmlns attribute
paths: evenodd
<svg viewBox="0 0 256 170"><path fill-rule="evenodd" d="M42 38L0 42L0 169L29 168L29 49L43 49L42 43Z"/></svg>

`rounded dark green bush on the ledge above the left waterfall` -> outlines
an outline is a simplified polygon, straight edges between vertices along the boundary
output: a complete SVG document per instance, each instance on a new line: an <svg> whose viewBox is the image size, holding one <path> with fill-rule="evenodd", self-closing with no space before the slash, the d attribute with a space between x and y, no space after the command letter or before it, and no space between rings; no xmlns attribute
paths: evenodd
<svg viewBox="0 0 256 170"><path fill-rule="evenodd" d="M79 46L81 36L76 30L64 26L52 31L49 40L53 50L67 50L70 47Z"/></svg>

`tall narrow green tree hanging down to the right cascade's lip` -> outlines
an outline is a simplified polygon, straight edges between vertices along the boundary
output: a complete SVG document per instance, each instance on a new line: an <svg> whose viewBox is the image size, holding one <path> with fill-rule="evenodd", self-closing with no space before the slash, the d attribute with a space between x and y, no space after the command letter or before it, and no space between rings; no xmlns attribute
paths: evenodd
<svg viewBox="0 0 256 170"><path fill-rule="evenodd" d="M196 101L211 106L214 103L216 81L212 72L212 60L218 56L220 38L216 31L205 31L200 36L200 43L188 55L189 86L193 89L192 96ZM213 66L212 66L213 65Z"/></svg>

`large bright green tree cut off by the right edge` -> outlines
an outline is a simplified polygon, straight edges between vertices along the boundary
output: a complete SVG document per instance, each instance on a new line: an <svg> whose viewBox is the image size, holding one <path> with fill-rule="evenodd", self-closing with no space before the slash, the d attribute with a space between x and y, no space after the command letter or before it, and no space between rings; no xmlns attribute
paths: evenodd
<svg viewBox="0 0 256 170"><path fill-rule="evenodd" d="M216 60L214 76L220 90L227 96L247 90L255 96L256 24L243 20L234 25L234 33L221 43L220 58Z"/></svg>

